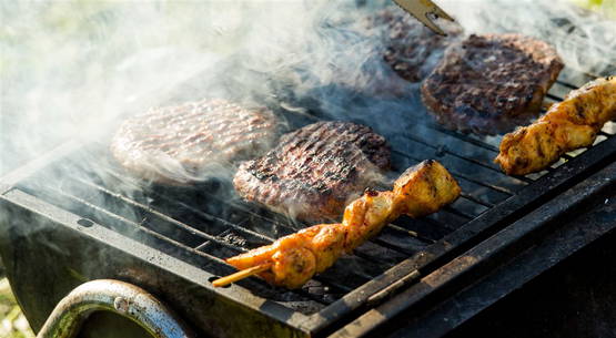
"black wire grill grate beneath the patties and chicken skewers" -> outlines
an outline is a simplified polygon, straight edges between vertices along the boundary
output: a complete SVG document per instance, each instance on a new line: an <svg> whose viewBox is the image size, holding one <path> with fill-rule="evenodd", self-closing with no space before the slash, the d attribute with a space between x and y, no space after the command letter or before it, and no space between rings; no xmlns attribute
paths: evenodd
<svg viewBox="0 0 616 338"><path fill-rule="evenodd" d="M559 101L562 95L556 93L574 88L558 81L548 99ZM392 114L408 119L407 112ZM370 121L362 120L368 117L355 120L370 125ZM310 122L313 121L309 119L301 123ZM612 137L615 125L607 123L597 143ZM492 162L502 136L461 134L431 122L412 124L395 133L376 131L392 145L395 172L425 158L438 160L458 180L463 188L461 198L422 219L405 216L396 219L378 237L357 248L353 255L342 257L334 267L315 276L299 290L271 287L256 278L242 280L240 285L293 310L315 314L583 153L569 153L542 173L512 177ZM193 187L143 186L127 177L112 163L101 160L108 157L100 156L101 152L104 152L101 146L92 145L69 162L57 163L53 170L30 177L19 188L214 275L233 272L223 258L269 244L305 225L293 224L280 215L241 202L230 193L232 188L225 181ZM92 167L103 170L94 173ZM50 184L54 177L67 178Z"/></svg>

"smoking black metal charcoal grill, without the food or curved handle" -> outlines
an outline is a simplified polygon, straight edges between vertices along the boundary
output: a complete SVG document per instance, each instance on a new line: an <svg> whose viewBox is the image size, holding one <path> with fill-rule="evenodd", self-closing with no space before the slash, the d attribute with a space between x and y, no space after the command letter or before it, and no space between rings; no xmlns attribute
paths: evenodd
<svg viewBox="0 0 616 338"><path fill-rule="evenodd" d="M567 74L546 101L590 79L572 83ZM0 249L14 293L34 330L74 287L112 278L156 295L203 336L355 337L393 327L393 335L441 337L616 227L615 123L542 173L507 176L492 162L501 137L448 131L425 114L337 119L385 135L394 172L442 162L461 198L425 218L401 217L297 290L257 278L226 288L211 281L234 272L223 258L302 224L241 202L225 180L147 186L115 167L103 144L63 144L0 182L10 219ZM293 126L331 119L287 117ZM584 225L573 209L587 211Z"/></svg>

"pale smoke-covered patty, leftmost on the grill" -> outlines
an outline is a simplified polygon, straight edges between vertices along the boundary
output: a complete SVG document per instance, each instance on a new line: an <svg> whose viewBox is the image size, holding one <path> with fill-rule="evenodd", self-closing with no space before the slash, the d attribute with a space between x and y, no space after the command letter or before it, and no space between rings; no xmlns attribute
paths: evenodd
<svg viewBox="0 0 616 338"><path fill-rule="evenodd" d="M156 107L124 121L111 152L145 180L181 185L262 155L276 139L276 124L271 111L224 100Z"/></svg>

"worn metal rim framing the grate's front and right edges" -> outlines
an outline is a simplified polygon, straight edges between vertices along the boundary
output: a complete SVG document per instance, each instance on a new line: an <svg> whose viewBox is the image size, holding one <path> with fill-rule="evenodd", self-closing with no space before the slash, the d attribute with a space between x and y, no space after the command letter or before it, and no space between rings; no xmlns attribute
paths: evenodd
<svg viewBox="0 0 616 338"><path fill-rule="evenodd" d="M451 133L445 130L442 130L442 132L445 134ZM468 140L473 140L469 136L460 134L456 134L455 137L467 137ZM412 257L396 264L383 275L351 290L341 299L313 315L290 313L287 308L281 308L275 301L263 300L260 297L250 295L250 291L242 286L235 285L230 289L214 289L210 283L208 283L208 279L214 277L213 274L198 268L195 270L194 266L183 263L161 250L152 247L147 249L134 239L117 236L117 233L101 224L93 223L92 225L83 226L80 224L81 217L79 215L50 205L36 196L23 194L19 188L16 188L21 182L28 180L28 177L34 175L37 172L43 171L54 161L70 157L71 153L78 151L81 145L78 142L64 144L33 163L2 177L0 181L0 198L3 207L14 215L23 214L24 211L27 211L27 213L32 214L32 217L39 218L41 224L53 224L50 225L51 228L60 226L62 232L73 232L78 234L78 237L85 236L103 246L105 243L112 243L114 249L128 254L131 257L137 257L137 260L131 263L133 265L135 262L140 262L140 259L143 260L143 253L147 253L145 256L150 257L147 260L149 262L148 264L152 265L152 269L163 269L165 275L169 274L168 277L164 277L168 278L168 281L161 285L150 285L150 288L144 286L147 289L153 290L154 294L173 295L174 293L170 291L170 287L174 284L184 284L186 285L186 289L202 288L200 294L201 297L203 297L203 301L201 303L203 305L214 305L205 315L195 315L185 309L183 310L185 301L180 301L180 304L175 306L180 314L186 316L186 318L199 328L238 337L235 334L241 332L233 331L234 327L232 322L224 324L223 319L212 315L220 311L222 311L222 314L232 311L234 314L243 314L240 320L254 324L254 326L249 326L251 330L248 332L254 334L255 331L263 330L261 326L263 324L270 325L272 322L271 319L273 319L273 322L275 322L273 327L280 328L281 336L291 335L307 337L314 335L322 336L333 331L336 327L353 319L360 313L377 306L392 295L413 285L421 277L437 270L446 262L507 227L516 219L521 218L525 213L536 209L551 198L558 196L568 187L584 180L589 173L613 162L616 156L616 136L608 136L607 140L590 147L575 158L569 157L570 161L561 165L557 170L553 170L538 177L536 181L527 177L515 177L516 180L528 183L528 185L515 194L512 194L507 199L491 206L479 216L473 217L462 227L427 246L421 254L415 253ZM444 152L446 153L447 150L444 150ZM16 223L20 222L18 221ZM22 226L27 225L24 224ZM12 227L14 227L14 224ZM4 229L2 232L4 232ZM4 238L4 240L2 240L2 247L10 247L10 243L14 240L9 238L14 238L14 236L20 237L22 234L2 235L2 238ZM74 236L74 234L68 235L68 237ZM139 250L135 250L135 247L138 247ZM3 249L2 256L14 257L14 253L7 253ZM168 262L169 264L154 264L153 262ZM128 264L127 267L130 267L130 264ZM16 267L13 266L12 269L14 273ZM9 270L11 270L10 266ZM137 281L135 284L138 285L143 285L144 283L143 280L131 280L132 277L118 275L113 270L105 270L103 275L104 276L101 277L118 278L130 283ZM93 279L94 276L88 276L88 278ZM175 281L171 283L170 280ZM220 296L223 297L224 301L220 301ZM188 297L188 295L176 295L175 297L183 299ZM171 298L173 298L173 296L171 296ZM194 305L189 306L189 309L191 307L194 307ZM250 313L246 313L246 309ZM38 315L39 318L44 316L44 313L40 314L42 315ZM221 320L223 325L220 325ZM214 322L218 324L214 325ZM37 320L33 321L33 327L37 328ZM270 329L264 331L264 334L267 332L270 332Z"/></svg>

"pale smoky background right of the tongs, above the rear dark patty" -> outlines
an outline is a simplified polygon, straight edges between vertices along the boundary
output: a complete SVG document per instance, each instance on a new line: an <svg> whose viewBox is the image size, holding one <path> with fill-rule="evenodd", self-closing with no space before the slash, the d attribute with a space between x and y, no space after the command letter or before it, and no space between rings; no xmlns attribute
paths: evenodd
<svg viewBox="0 0 616 338"><path fill-rule="evenodd" d="M582 2L582 1L578 1ZM590 2L590 1L587 1ZM547 41L568 68L593 75L616 72L615 1L603 1L594 12L573 1L481 1L440 2L454 13L467 32L518 32Z"/></svg>

